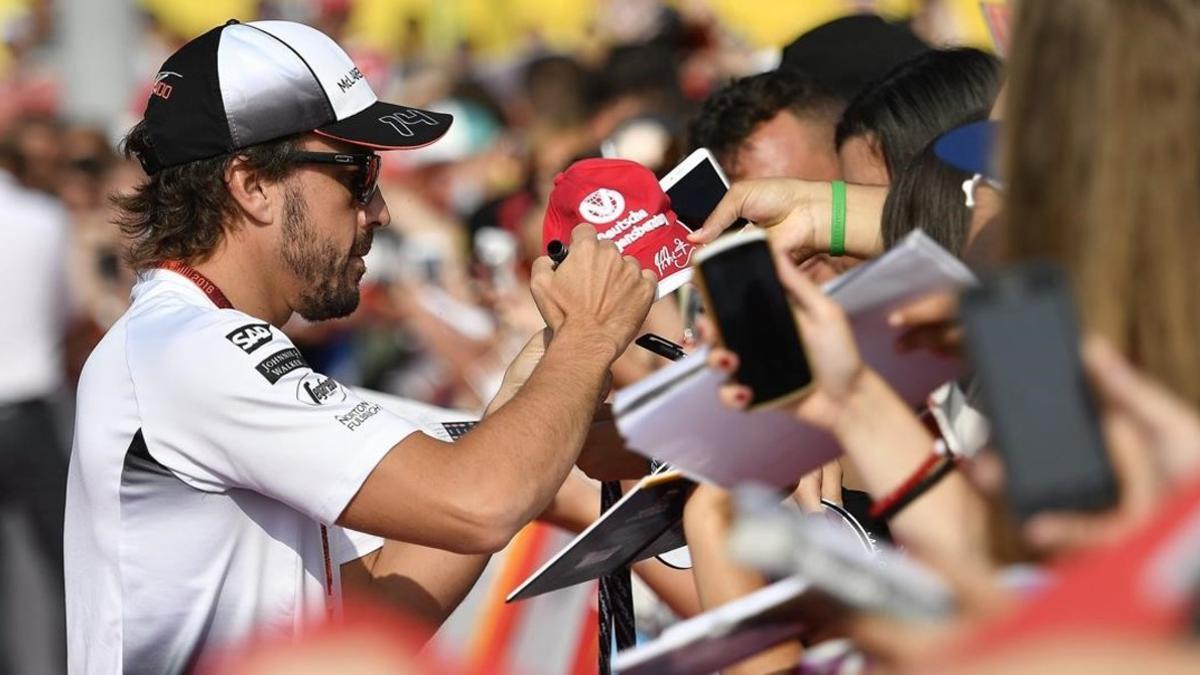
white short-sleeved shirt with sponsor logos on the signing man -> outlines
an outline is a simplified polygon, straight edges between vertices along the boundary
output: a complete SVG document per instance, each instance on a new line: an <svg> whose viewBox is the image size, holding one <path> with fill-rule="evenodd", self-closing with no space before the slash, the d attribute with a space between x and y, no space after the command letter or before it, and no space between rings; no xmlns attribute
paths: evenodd
<svg viewBox="0 0 1200 675"><path fill-rule="evenodd" d="M340 610L382 539L332 524L416 428L313 372L265 322L145 275L79 381L67 483L72 673L180 673ZM329 551L326 561L325 551Z"/></svg>

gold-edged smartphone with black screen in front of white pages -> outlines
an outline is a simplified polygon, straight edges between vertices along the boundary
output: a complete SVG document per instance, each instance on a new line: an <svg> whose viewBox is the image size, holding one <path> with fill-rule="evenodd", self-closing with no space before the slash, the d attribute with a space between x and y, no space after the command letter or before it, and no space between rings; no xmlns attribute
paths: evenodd
<svg viewBox="0 0 1200 675"><path fill-rule="evenodd" d="M696 252L694 264L718 342L738 354L734 380L754 392L750 407L803 395L812 371L766 233L718 238Z"/></svg>

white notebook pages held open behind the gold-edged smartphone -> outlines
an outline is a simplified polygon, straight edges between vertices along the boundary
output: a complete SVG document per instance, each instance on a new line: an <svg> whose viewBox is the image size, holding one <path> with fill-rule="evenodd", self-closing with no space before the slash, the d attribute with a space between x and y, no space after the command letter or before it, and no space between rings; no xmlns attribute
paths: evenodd
<svg viewBox="0 0 1200 675"><path fill-rule="evenodd" d="M830 282L826 291L851 317L863 359L912 405L962 375L958 359L918 350L898 354L887 315L899 305L973 276L954 256L916 231L884 256ZM724 376L697 351L617 393L617 428L634 450L684 474L726 488L761 483L785 488L840 454L834 440L786 410L742 412L720 404Z"/></svg>

